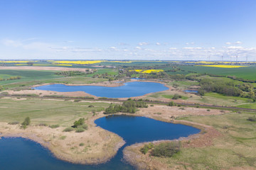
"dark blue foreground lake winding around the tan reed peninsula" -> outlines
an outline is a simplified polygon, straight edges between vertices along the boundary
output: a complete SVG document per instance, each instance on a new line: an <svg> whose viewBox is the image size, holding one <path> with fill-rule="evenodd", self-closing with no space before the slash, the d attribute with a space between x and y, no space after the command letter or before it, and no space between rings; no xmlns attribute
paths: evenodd
<svg viewBox="0 0 256 170"><path fill-rule="evenodd" d="M164 123L150 118L129 115L110 115L95 120L95 123L101 128L115 132L126 141L116 156L105 164L95 166L70 164L56 159L48 149L31 140L21 137L2 137L0 140L0 169L130 170L134 167L122 161L122 149L127 145L153 140L173 140L200 132L200 130L187 125Z"/></svg>

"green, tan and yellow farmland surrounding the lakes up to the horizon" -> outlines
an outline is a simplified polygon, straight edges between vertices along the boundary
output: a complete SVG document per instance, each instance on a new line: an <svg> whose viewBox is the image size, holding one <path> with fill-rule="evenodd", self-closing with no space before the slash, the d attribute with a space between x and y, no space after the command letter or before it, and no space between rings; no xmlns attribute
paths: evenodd
<svg viewBox="0 0 256 170"><path fill-rule="evenodd" d="M41 84L120 86L125 82L131 81L132 77L136 77L142 79L133 79L132 81L154 81L164 84L169 87L169 90L129 99L156 103L164 102L161 103L162 105L150 103L149 108L139 108L135 115L166 122L176 121L176 123L194 125L201 128L206 134L212 132L210 130L215 132L213 139L210 138L208 140L207 137L206 139L199 138L203 141L207 140L205 142L207 145L202 145L201 143L199 145L193 139L183 140L181 152L174 154L173 157L143 156L145 160L153 160L152 162L157 164L180 169L184 169L183 167L185 166L188 169L204 169L204 167L209 169L230 169L237 166L247 169L248 167L255 167L256 155L251 149L252 146L255 146L256 134L253 131L255 123L247 120L247 118L255 115L254 111L250 113L247 111L233 111L231 108L218 110L215 106L256 109L255 82L246 81L256 80L256 67L233 68L233 65L228 65L230 66L228 68L196 66L197 64L215 64L214 62L177 63L170 61L118 62L100 60L100 62L85 64L81 61L70 63L59 61L58 64L60 65L58 67L72 68L72 70L1 69L0 78L6 80L0 81L2 89L0 92L0 131L9 135L17 135L23 132L25 134L23 137L41 142L30 135L29 132L33 132L41 139L50 142L50 146L52 146L50 150L53 154L66 161L82 164L95 163L97 162L95 160L105 162L116 153L114 147L117 145L119 147L122 146L123 141L117 135L95 127L93 121L105 116L103 112L105 108L110 106L110 103L119 103L121 100L127 100L127 98L119 98L121 99L119 101L118 99L117 101L104 101L91 96L91 98L95 99L90 99L89 101L86 98L78 99L79 96L87 95L80 92L70 93L66 98L54 98L54 96L65 96L66 94L61 94L62 92L55 93L55 91L31 90L31 86ZM19 67L15 65L17 62L6 64L11 67ZM20 64L26 64L26 62ZM55 61L38 61L30 68L43 67L43 65L36 66L36 64L50 64L50 67L53 67L53 65L56 67L57 63ZM72 66L63 64L72 64ZM75 71L75 68L82 68L82 70ZM147 70L161 71L146 72ZM232 79L232 77L226 76L235 76L242 79ZM10 77L21 78L9 80ZM215 86L213 85L215 84L219 85L218 89L221 87L223 89L233 88L239 92L239 95L223 94L223 91L220 90L214 91ZM213 88L208 91L207 88L211 86ZM203 94L185 92L185 90L200 91L203 87L205 88ZM5 96L6 94L8 95ZM29 94L28 97L23 97L23 95L26 96L27 94ZM36 95L36 97L33 97L33 95ZM44 95L48 97L43 98ZM174 105L175 103L178 104L176 106L166 106L171 101L174 102ZM201 104L201 106L198 104ZM31 118L31 125L26 130L23 130L19 126L26 117ZM65 128L69 128L79 118L85 118L88 130L79 133L79 135L75 131L63 132ZM18 123L18 125L9 125L8 123ZM209 131L204 131L205 129L202 126L211 128ZM44 134L43 132L46 133ZM78 138L82 139L84 146L80 147L81 142ZM108 140L104 141L103 139ZM41 144L45 145L43 142ZM64 151L68 152L68 154L65 154ZM133 148L131 151L137 153L137 155L141 154L138 148ZM100 156L102 153L105 153L103 157ZM73 159L69 159L70 155L73 155ZM92 160L92 162L78 161L81 159ZM144 159L142 159L143 162Z"/></svg>

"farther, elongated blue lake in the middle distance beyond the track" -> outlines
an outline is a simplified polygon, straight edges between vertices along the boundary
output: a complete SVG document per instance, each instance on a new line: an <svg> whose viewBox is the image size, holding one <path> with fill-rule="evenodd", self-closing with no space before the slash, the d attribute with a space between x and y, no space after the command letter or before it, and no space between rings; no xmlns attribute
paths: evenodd
<svg viewBox="0 0 256 170"><path fill-rule="evenodd" d="M98 97L107 98L129 98L135 96L143 96L157 91L168 90L164 84L153 82L129 82L124 86L106 87L106 86L65 86L64 84L51 84L46 86L37 86L33 89L46 91L85 91L87 94L92 94Z"/></svg>

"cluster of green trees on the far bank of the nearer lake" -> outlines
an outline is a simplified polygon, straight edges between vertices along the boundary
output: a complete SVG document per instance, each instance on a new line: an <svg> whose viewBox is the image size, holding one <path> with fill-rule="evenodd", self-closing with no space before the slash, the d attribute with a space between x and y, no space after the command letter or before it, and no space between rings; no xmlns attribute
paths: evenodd
<svg viewBox="0 0 256 170"><path fill-rule="evenodd" d="M147 108L147 104L144 101L124 101L122 105L111 103L108 108L105 109L104 114L113 114L113 113L135 113L137 108Z"/></svg>

